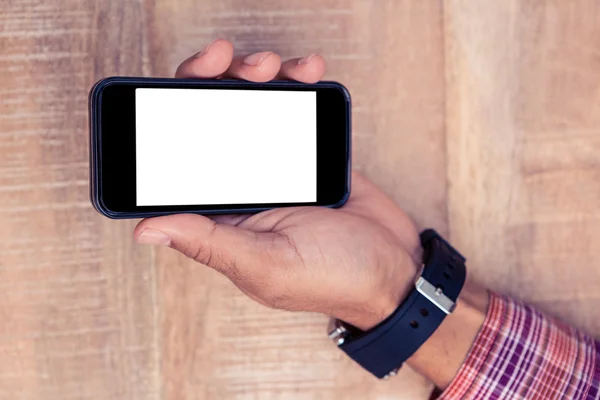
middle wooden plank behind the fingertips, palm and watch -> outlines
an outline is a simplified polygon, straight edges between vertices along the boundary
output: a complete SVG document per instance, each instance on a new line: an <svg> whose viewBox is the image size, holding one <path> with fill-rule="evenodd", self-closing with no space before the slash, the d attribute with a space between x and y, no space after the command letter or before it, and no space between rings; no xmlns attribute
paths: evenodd
<svg viewBox="0 0 600 400"><path fill-rule="evenodd" d="M153 75L217 37L239 52L319 52L354 102L354 164L421 225L446 229L441 3L157 0ZM199 110L201 112L201 110ZM201 183L200 183L201 184ZM326 319L268 310L224 278L167 250L156 255L164 397L423 399L405 368L378 382L325 336Z"/></svg>

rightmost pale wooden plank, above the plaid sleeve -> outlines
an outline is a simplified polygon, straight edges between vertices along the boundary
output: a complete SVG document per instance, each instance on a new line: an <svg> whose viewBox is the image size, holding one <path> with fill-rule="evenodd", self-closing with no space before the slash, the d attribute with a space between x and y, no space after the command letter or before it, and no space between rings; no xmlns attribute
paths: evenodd
<svg viewBox="0 0 600 400"><path fill-rule="evenodd" d="M600 334L600 4L445 3L449 223L473 275Z"/></svg>

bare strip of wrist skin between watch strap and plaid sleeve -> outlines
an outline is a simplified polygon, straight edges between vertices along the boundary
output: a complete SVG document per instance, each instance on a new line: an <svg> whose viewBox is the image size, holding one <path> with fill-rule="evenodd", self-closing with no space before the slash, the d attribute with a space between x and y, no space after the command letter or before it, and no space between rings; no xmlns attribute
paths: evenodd
<svg viewBox="0 0 600 400"><path fill-rule="evenodd" d="M487 290L466 283L454 312L407 360L408 365L426 376L436 387L445 389L458 372L481 329L488 301Z"/></svg>

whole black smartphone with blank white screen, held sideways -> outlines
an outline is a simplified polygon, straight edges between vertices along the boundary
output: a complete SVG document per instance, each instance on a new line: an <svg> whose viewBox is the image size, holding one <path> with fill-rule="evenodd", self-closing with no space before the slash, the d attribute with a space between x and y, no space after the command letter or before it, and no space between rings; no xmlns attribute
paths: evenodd
<svg viewBox="0 0 600 400"><path fill-rule="evenodd" d="M337 82L111 77L89 112L91 201L109 218L340 207L350 194Z"/></svg>

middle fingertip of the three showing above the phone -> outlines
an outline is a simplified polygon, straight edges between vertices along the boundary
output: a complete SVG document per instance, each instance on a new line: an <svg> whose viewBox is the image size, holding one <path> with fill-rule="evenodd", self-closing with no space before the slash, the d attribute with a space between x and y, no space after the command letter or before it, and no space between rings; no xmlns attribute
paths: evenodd
<svg viewBox="0 0 600 400"><path fill-rule="evenodd" d="M281 67L281 57L271 51L235 57L223 78L267 82L275 78Z"/></svg>

